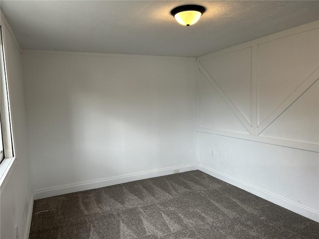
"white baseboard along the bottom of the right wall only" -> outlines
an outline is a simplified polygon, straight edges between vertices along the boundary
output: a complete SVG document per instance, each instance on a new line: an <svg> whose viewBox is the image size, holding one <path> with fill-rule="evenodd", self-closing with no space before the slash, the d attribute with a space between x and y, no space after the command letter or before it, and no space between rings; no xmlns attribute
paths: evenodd
<svg viewBox="0 0 319 239"><path fill-rule="evenodd" d="M260 198L263 198L269 202L272 202L274 204L277 204L283 208L286 208L292 212L295 212L299 215L302 215L306 218L309 218L311 220L314 220L316 222L319 222L319 211L316 211L314 209L308 208L306 206L297 204L289 199L283 198L279 195L273 194L271 192L268 192L266 190L263 190L261 188L255 187L253 185L250 185L248 183L245 183L243 181L240 181L236 178L227 176L223 173L217 172L211 168L208 168L202 164L198 164L198 170L209 174L210 176L213 176L215 178L218 178L226 183L229 183L231 185L234 185L238 188L241 188L247 192L250 192Z"/></svg>

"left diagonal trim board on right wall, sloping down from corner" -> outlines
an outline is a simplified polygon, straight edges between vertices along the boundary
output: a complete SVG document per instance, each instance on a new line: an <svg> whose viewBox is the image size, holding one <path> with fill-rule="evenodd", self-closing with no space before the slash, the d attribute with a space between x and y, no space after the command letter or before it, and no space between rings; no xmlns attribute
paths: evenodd
<svg viewBox="0 0 319 239"><path fill-rule="evenodd" d="M228 96L223 92L223 90L218 86L218 84L214 81L214 79L209 75L209 73L205 70L205 68L198 62L198 68L209 81L209 83L215 88L218 94L223 98L226 104L230 107L232 112L237 116L237 118L245 125L249 133L252 133L252 126L248 122L248 120L243 116L243 114L238 110L235 104L228 98Z"/></svg>

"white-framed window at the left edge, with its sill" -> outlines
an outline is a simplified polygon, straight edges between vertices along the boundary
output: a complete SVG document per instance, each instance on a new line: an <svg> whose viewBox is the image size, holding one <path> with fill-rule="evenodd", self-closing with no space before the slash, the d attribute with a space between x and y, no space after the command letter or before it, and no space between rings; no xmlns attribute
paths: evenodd
<svg viewBox="0 0 319 239"><path fill-rule="evenodd" d="M2 181L14 163L14 153L2 26L0 26L0 36L0 185L2 186Z"/></svg>

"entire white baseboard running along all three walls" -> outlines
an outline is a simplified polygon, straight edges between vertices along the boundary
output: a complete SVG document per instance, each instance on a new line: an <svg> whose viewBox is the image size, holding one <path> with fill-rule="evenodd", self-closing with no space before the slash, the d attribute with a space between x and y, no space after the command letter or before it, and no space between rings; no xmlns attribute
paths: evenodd
<svg viewBox="0 0 319 239"><path fill-rule="evenodd" d="M277 204L283 208L286 208L292 212L295 212L299 215L302 215L306 218L309 218L311 220L314 220L316 222L319 222L319 211L316 211L314 209L308 208L306 206L300 205L298 203L295 203L289 199L283 198L279 195L273 194L271 192L268 192L266 190L263 190L261 188L255 187L253 185L250 185L248 183L245 183L241 180L238 180L236 178L227 176L223 173L217 172L211 168L208 168L202 164L190 164L190 165L184 165L184 166L173 166L168 168L162 168L157 170L150 170L150 171L144 171L139 173L132 173L132 174L126 174L121 175L117 177L110 177L110 178L104 178L96 181L90 181L90 182L82 182L78 184L69 184L69 185L63 185L59 187L52 187L52 188L45 188L41 190L35 190L33 192L33 198L30 201L30 207L27 217L27 224L24 235L27 236L29 234L29 228L32 218L32 208L33 208L33 199L42 199L42 198L48 198L58 195L63 195L67 193L74 193L74 192L80 192L84 190L90 190L95 188L102 188L107 187L111 185L121 184L121 183L127 183L132 182L136 180L142 180L147 178L153 178L153 177L159 177L164 175L173 174L173 171L178 169L179 172L187 172L191 170L200 170L204 173L209 174L210 176L213 176L215 178L218 178L226 183L229 183L231 185L234 185L238 188L241 188L249 193L252 193L258 197L261 197L269 202L272 202L274 204ZM31 205L32 203L32 205ZM27 237L26 237L27 238Z"/></svg>

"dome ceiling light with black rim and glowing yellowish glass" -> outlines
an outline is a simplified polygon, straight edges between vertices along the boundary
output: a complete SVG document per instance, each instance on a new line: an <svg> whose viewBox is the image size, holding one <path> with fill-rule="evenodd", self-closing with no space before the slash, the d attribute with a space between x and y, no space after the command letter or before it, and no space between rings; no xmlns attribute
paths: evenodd
<svg viewBox="0 0 319 239"><path fill-rule="evenodd" d="M190 26L196 23L205 12L205 7L199 5L177 6L170 11L176 21L184 26Z"/></svg>

